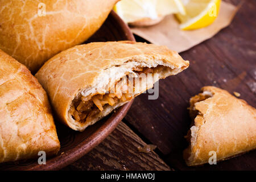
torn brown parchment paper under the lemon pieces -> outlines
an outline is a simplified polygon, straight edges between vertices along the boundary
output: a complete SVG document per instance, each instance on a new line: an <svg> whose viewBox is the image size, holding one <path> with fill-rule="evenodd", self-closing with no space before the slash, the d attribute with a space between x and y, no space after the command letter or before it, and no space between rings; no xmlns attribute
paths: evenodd
<svg viewBox="0 0 256 182"><path fill-rule="evenodd" d="M179 22L174 15L168 15L162 22L154 26L131 27L131 31L151 43L167 46L174 51L182 52L204 40L212 38L218 31L228 26L237 10L238 7L222 1L216 20L208 27L197 30L180 30Z"/></svg>

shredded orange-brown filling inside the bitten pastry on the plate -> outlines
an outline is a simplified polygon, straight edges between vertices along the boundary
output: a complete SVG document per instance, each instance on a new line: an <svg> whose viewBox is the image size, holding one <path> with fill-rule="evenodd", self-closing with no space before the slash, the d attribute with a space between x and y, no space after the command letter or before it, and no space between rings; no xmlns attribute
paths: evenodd
<svg viewBox="0 0 256 182"><path fill-rule="evenodd" d="M153 69L134 68L134 71L139 75L141 73L152 73ZM105 105L113 106L119 101L125 102L131 100L133 97L132 94L128 92L129 89L134 90L134 85L128 84L128 77L126 76L115 83L114 93L110 90L110 93L96 94L92 96L89 101L86 101L86 97L81 96L81 98L71 106L69 112L76 121L90 122L93 115L104 110Z"/></svg>

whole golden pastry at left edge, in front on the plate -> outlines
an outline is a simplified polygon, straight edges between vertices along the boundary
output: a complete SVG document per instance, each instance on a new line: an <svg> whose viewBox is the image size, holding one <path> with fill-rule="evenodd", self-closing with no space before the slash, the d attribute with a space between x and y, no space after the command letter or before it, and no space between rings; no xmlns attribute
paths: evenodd
<svg viewBox="0 0 256 182"><path fill-rule="evenodd" d="M0 162L60 149L46 92L28 69L0 50Z"/></svg>

